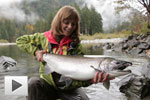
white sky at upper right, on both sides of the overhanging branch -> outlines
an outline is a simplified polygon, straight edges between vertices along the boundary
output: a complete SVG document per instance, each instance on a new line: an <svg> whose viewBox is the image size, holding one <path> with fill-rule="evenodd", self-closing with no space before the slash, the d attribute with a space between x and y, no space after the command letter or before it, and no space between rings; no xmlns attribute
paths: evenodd
<svg viewBox="0 0 150 100"><path fill-rule="evenodd" d="M120 12L120 14L116 14L115 7L117 4L114 1L117 0L85 0L85 3L89 7L91 5L94 6L97 12L101 14L104 30L115 27L123 21L129 21L128 15L130 14L130 10L126 9ZM145 14L145 8L137 0L126 0L126 3Z"/></svg>

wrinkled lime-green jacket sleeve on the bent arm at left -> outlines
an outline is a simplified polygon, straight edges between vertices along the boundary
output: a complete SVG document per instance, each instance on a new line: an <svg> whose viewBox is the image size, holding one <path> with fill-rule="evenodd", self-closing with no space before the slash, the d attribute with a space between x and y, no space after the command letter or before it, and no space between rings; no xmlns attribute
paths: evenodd
<svg viewBox="0 0 150 100"><path fill-rule="evenodd" d="M41 41L43 40L43 37L43 33L24 35L17 38L16 44L21 50L34 55L35 51L41 48Z"/></svg>

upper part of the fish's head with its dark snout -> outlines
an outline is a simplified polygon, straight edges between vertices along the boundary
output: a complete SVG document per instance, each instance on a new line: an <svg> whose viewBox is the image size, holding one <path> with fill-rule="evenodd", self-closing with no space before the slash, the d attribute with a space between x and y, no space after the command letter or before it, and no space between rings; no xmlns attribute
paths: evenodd
<svg viewBox="0 0 150 100"><path fill-rule="evenodd" d="M106 59L101 62L104 71L113 71L113 70L124 70L128 66L131 66L132 63L123 60L116 60L114 58Z"/></svg>

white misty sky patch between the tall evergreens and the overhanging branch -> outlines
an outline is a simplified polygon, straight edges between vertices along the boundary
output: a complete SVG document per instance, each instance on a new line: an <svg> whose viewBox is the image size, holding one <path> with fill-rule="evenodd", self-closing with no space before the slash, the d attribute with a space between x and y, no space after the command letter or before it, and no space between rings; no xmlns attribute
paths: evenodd
<svg viewBox="0 0 150 100"><path fill-rule="evenodd" d="M115 27L117 24L128 20L126 17L129 11L124 11L121 15L115 13L116 4L114 0L85 0L87 5L90 7L93 5L97 12L99 12L103 19L103 28L107 30L110 27Z"/></svg>

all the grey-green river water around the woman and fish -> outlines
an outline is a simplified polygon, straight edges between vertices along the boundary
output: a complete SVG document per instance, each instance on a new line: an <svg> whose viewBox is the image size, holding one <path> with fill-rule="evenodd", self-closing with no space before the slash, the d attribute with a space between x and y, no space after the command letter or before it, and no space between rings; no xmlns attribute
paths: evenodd
<svg viewBox="0 0 150 100"><path fill-rule="evenodd" d="M144 68L143 66L147 66L149 62L148 58L131 56L118 52L104 51L101 48L95 48L93 46L84 46L84 52L86 56L109 56L121 60L131 61L133 66L129 67L129 69L136 67L136 70L134 70L133 73L138 75L142 74ZM4 76L38 76L39 63L34 57L22 52L16 45L0 46L0 56L2 55L15 59L17 61L17 66L8 72L0 72L0 100L26 100L24 96L8 96L4 94ZM89 96L90 100L129 100L124 94L119 92L117 82L120 79L121 78L119 77L112 80L109 90L105 89L102 83L93 84L84 88L84 90ZM150 100L150 97L143 100Z"/></svg>

